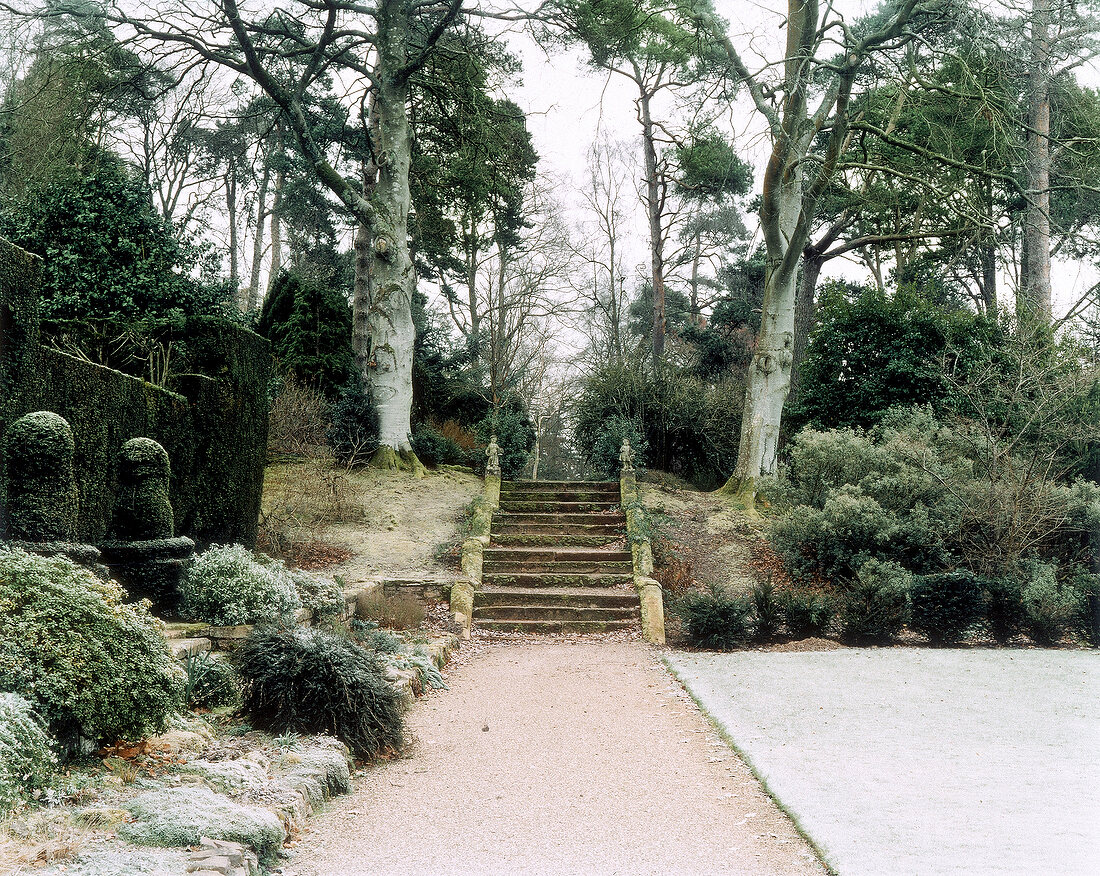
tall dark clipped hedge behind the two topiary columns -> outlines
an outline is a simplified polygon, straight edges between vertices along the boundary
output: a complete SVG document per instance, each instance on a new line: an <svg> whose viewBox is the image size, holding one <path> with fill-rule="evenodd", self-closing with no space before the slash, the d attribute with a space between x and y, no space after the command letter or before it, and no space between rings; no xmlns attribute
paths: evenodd
<svg viewBox="0 0 1100 876"><path fill-rule="evenodd" d="M267 341L215 317L187 319L178 330L187 350L185 373L169 381L170 390L154 386L41 346L34 266L18 273L24 264L19 253L0 240L0 314L12 314L10 321L0 319L0 380L7 381L0 386L0 434L29 410L53 410L69 421L78 537L96 544L108 535L119 450L144 437L158 441L172 460L178 535L200 545L253 545L267 447Z"/></svg>

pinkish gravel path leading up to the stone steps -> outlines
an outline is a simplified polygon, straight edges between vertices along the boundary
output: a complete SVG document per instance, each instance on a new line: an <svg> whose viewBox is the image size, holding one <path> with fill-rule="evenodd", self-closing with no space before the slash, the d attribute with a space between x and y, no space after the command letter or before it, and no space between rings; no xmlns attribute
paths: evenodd
<svg viewBox="0 0 1100 876"><path fill-rule="evenodd" d="M286 874L824 872L648 646L464 659L414 707L413 756L358 778Z"/></svg>

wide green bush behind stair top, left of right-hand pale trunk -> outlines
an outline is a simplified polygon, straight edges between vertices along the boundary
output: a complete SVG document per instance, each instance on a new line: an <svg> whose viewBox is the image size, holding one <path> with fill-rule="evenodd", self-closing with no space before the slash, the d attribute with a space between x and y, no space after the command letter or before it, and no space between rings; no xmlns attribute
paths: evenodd
<svg viewBox="0 0 1100 876"><path fill-rule="evenodd" d="M671 364L657 374L640 362L607 365L582 384L574 442L587 456L609 421L627 420L645 438L649 468L710 489L724 483L736 462L744 395L737 382L707 383Z"/></svg>

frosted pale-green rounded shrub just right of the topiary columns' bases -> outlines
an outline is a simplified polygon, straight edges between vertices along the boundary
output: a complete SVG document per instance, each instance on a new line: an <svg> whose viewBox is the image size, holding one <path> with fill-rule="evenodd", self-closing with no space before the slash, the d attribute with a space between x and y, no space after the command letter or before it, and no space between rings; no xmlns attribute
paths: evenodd
<svg viewBox="0 0 1100 876"><path fill-rule="evenodd" d="M301 599L283 563L240 545L216 545L191 563L184 581L184 613L222 626L294 614Z"/></svg>

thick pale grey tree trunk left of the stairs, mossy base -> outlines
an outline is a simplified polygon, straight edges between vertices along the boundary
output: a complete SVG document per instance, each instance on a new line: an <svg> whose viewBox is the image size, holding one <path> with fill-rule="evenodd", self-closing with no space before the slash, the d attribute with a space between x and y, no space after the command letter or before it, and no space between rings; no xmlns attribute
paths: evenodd
<svg viewBox="0 0 1100 876"><path fill-rule="evenodd" d="M408 22L396 3L378 14L378 85L372 105L376 135L377 183L371 200L377 211L370 260L370 329L363 381L378 413L378 450L373 464L424 467L413 452L413 294L416 271L408 245L409 164L413 138L408 122L408 85L396 72L405 62Z"/></svg>

